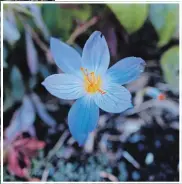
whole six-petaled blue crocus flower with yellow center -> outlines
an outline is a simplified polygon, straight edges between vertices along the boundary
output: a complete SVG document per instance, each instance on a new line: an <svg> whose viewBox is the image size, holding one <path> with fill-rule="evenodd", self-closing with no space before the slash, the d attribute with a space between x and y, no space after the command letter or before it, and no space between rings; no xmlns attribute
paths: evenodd
<svg viewBox="0 0 182 184"><path fill-rule="evenodd" d="M145 62L127 57L110 67L110 54L101 32L87 40L82 57L69 45L51 38L50 49L60 69L65 72L45 79L43 85L54 96L76 100L68 113L68 125L74 139L83 145L99 120L99 108L121 113L132 107L131 94L123 86L139 77Z"/></svg>

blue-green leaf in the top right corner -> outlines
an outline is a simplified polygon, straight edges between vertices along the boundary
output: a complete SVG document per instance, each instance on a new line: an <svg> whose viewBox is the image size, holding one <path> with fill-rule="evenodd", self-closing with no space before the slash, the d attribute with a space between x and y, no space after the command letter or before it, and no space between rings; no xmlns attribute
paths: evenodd
<svg viewBox="0 0 182 184"><path fill-rule="evenodd" d="M159 36L158 46L167 44L176 32L179 18L177 4L151 4L149 19Z"/></svg>

